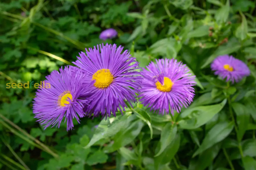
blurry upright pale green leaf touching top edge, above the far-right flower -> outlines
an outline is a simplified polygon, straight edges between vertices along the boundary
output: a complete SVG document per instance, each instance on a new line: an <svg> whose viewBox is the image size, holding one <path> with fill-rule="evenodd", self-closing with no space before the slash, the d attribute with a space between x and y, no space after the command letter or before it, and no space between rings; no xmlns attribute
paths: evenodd
<svg viewBox="0 0 256 170"><path fill-rule="evenodd" d="M216 13L215 13L215 19L218 24L221 24L223 22L226 22L229 16L229 0L227 0L227 3L225 6L220 7Z"/></svg>

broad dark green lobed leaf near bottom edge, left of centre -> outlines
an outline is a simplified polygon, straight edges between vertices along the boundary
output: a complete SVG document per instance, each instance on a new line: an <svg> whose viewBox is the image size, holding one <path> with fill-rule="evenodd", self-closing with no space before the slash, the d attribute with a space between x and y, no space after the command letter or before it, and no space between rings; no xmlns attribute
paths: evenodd
<svg viewBox="0 0 256 170"><path fill-rule="evenodd" d="M88 165L95 165L98 163L106 163L107 160L108 160L108 155L102 152L101 150L97 150L88 157L88 159L86 160L86 163Z"/></svg>

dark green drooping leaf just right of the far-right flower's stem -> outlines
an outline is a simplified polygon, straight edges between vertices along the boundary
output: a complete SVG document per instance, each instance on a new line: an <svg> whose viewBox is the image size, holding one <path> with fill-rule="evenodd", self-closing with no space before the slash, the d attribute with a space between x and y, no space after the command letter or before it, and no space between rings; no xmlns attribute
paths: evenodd
<svg viewBox="0 0 256 170"><path fill-rule="evenodd" d="M238 124L238 139L242 140L244 133L247 130L247 126L250 122L250 114L247 112L246 107L241 103L232 103L232 107L237 115L237 124Z"/></svg>

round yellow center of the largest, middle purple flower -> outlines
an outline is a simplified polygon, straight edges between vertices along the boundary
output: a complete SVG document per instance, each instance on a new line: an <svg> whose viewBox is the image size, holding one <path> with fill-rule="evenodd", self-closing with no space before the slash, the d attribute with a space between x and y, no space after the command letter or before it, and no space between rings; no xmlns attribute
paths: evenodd
<svg viewBox="0 0 256 170"><path fill-rule="evenodd" d="M96 80L94 86L97 88L106 88L114 80L114 76L110 73L109 69L100 69L92 75L92 80Z"/></svg>

